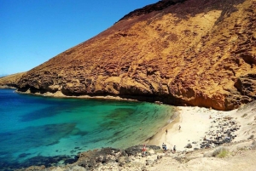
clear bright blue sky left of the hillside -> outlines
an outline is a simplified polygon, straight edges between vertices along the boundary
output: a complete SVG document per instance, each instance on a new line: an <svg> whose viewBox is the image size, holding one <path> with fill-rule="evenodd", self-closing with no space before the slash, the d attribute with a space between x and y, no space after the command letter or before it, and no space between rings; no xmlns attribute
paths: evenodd
<svg viewBox="0 0 256 171"><path fill-rule="evenodd" d="M0 77L29 71L158 0L0 0Z"/></svg>

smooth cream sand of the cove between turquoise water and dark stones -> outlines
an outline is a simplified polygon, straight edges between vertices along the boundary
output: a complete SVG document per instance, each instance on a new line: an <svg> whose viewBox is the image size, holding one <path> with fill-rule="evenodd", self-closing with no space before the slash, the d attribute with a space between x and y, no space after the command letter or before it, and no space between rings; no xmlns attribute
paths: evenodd
<svg viewBox="0 0 256 171"><path fill-rule="evenodd" d="M179 116L165 128L162 128L160 133L156 134L154 139L148 142L149 145L161 146L162 143L165 143L167 149L172 149L176 145L177 151L192 151L194 148L200 148L200 143L206 132L210 129L212 131L217 130L215 126L218 123L212 123L213 120L227 116L235 117L237 115L237 110L215 111L200 107L178 107L178 109ZM181 126L180 130L178 130L179 125ZM167 134L166 128L168 130ZM193 144L193 142L196 142L196 144ZM184 148L189 143L193 147L190 149Z"/></svg>

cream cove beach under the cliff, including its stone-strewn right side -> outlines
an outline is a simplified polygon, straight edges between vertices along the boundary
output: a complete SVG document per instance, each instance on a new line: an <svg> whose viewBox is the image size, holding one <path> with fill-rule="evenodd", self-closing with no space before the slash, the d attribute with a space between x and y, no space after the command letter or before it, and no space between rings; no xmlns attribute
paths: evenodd
<svg viewBox="0 0 256 171"><path fill-rule="evenodd" d="M179 111L177 117L172 123L162 128L152 140L149 140L148 145L161 146L164 143L169 150L176 145L177 151L193 151L195 148L201 148L204 137L207 140L214 140L217 136L222 135L222 138L225 139L226 135L221 133L222 130L225 132L230 128L239 128L231 133L235 137L232 141L247 140L254 133L252 126L255 111L251 109L216 111L201 107L179 106L177 108ZM246 114L247 116L243 117ZM185 148L188 144L192 147Z"/></svg>

